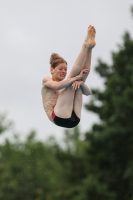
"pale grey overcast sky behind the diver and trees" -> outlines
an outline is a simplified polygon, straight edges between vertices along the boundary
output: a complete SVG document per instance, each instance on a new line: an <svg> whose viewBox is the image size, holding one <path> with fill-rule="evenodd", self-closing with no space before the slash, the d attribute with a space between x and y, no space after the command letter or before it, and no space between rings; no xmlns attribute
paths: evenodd
<svg viewBox="0 0 133 200"><path fill-rule="evenodd" d="M0 113L14 121L21 138L33 129L41 140L51 135L62 138L64 129L49 121L42 106L41 85L43 77L50 76L50 55L64 57L69 74L87 27L94 25L97 45L86 84L103 88L94 67L98 58L111 62L111 52L117 50L125 31L132 35L132 5L132 0L0 1ZM90 100L83 98L84 104ZM98 120L83 107L81 131Z"/></svg>

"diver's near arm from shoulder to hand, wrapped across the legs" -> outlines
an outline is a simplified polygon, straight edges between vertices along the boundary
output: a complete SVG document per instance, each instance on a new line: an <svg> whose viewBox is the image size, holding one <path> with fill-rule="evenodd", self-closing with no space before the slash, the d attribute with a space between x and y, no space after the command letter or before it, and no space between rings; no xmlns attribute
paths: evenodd
<svg viewBox="0 0 133 200"><path fill-rule="evenodd" d="M78 76L75 76L73 78L69 78L67 80L59 81L59 82L53 81L50 77L45 77L43 79L43 86L49 87L53 90L60 90L60 89L68 87L74 81L83 79L83 77L85 76L86 73L88 73L88 70L83 69Z"/></svg>

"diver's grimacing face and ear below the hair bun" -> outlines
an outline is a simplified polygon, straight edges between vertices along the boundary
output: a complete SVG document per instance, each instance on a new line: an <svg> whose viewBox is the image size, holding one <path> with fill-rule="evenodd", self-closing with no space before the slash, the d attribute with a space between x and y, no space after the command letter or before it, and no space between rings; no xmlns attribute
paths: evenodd
<svg viewBox="0 0 133 200"><path fill-rule="evenodd" d="M55 69L51 67L51 74L52 74L52 79L54 81L62 81L65 79L66 74L67 74L67 64L66 63L61 63Z"/></svg>

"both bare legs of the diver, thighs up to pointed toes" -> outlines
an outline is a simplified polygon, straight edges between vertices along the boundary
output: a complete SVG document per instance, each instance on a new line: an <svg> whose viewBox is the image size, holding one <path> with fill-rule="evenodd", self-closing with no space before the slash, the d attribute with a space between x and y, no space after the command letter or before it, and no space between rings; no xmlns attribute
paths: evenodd
<svg viewBox="0 0 133 200"><path fill-rule="evenodd" d="M74 63L68 78L74 77L80 73L83 68L90 68L91 51L95 46L95 28L88 27L86 39L83 43L82 49ZM72 90L71 86L65 88L59 95L57 103L54 107L56 116L60 118L70 118L72 110L74 109L77 117L80 118L82 108L82 90Z"/></svg>

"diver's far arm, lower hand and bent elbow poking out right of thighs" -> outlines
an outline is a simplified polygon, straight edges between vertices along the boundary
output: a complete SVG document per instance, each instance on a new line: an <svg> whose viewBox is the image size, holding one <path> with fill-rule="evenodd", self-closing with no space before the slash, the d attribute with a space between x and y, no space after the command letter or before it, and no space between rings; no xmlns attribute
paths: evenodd
<svg viewBox="0 0 133 200"><path fill-rule="evenodd" d="M83 81L75 81L72 84L72 89L76 90L78 88L82 89L82 93L86 96L92 94L90 88Z"/></svg>

